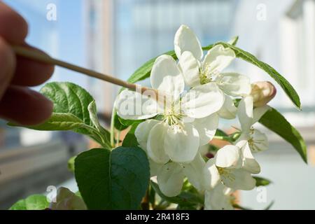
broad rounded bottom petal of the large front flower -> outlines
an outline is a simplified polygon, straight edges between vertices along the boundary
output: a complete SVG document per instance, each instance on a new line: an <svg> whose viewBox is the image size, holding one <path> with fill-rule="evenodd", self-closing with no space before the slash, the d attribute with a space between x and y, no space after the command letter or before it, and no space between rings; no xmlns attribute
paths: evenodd
<svg viewBox="0 0 315 224"><path fill-rule="evenodd" d="M174 162L191 162L198 152L199 134L190 123L182 125L169 126L165 135L165 152Z"/></svg>

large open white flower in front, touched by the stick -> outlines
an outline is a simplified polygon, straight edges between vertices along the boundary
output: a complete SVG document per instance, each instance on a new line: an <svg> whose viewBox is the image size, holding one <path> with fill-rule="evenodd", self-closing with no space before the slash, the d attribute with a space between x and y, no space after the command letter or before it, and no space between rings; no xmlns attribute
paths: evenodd
<svg viewBox="0 0 315 224"><path fill-rule="evenodd" d="M216 112L224 102L221 90L209 83L183 94L181 71L176 61L167 55L156 59L151 71L151 85L170 96L166 105L160 106L154 99L124 90L116 99L118 116L139 120L159 114L161 120L146 120L137 127L136 137L141 147L147 149L154 162L163 165L169 160L193 161L199 146L207 144L218 128Z"/></svg>

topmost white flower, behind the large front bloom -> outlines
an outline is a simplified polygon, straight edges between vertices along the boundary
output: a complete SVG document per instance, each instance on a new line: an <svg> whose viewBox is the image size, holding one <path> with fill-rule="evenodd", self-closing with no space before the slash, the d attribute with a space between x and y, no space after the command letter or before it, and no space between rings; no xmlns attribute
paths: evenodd
<svg viewBox="0 0 315 224"><path fill-rule="evenodd" d="M221 73L235 59L235 52L223 45L216 45L203 58L202 46L193 31L181 25L176 32L174 49L179 58L179 66L183 72L186 85L195 87L207 83L214 83L225 94L228 102L223 106L225 113L221 116L226 119L235 118L237 109L229 96L239 97L251 92L251 83L248 77L239 73ZM227 113L228 111L228 113Z"/></svg>

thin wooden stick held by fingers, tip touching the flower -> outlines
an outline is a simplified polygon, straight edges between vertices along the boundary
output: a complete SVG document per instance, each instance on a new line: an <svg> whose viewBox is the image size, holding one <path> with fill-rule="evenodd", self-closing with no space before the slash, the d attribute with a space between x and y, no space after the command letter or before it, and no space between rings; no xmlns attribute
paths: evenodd
<svg viewBox="0 0 315 224"><path fill-rule="evenodd" d="M36 50L32 50L31 48L26 48L26 47L18 46L18 45L12 45L12 49L16 55L19 55L21 57L33 59L37 62L43 62L45 64L61 66L63 68L70 69L72 71L77 71L79 73L83 73L87 76L98 78L98 79L104 80L106 82L113 83L115 85L120 85L121 87L126 87L127 89L130 89L130 90L134 90L134 91L141 90L141 93L144 93L147 90L151 90L151 91L154 91L155 94L158 96L158 90L155 90L155 89L152 89L149 87L141 87L137 84L128 83L124 80L121 80L119 78L115 78L113 76L99 73L97 71L92 71L90 69L85 69L83 67L76 66L76 65L70 64L68 62L63 62L59 59L54 59L54 58L50 57L49 55L46 55L43 52L38 52Z"/></svg>

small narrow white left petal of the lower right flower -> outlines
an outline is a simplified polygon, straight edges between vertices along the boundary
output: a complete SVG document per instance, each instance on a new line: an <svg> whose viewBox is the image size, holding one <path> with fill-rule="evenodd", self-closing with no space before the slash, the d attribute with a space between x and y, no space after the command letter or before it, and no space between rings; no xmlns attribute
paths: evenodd
<svg viewBox="0 0 315 224"><path fill-rule="evenodd" d="M204 189L211 190L221 181L220 174L214 163L214 159L208 160L204 167Z"/></svg>

